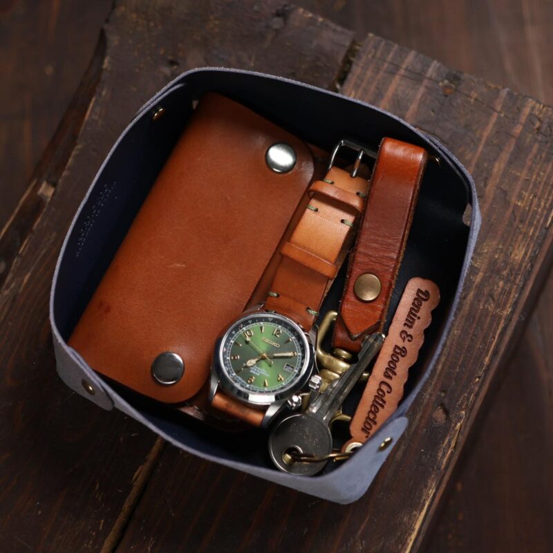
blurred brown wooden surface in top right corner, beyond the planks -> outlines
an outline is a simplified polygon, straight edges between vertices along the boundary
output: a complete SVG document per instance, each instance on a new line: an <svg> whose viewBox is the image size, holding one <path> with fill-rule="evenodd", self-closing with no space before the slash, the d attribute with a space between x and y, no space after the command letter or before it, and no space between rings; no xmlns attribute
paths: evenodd
<svg viewBox="0 0 553 553"><path fill-rule="evenodd" d="M299 5L553 104L549 0L301 0Z"/></svg>

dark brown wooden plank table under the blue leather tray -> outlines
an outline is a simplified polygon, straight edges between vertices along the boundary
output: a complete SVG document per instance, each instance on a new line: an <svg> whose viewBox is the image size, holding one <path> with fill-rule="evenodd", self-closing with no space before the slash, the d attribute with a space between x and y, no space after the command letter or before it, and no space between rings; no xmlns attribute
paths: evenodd
<svg viewBox="0 0 553 553"><path fill-rule="evenodd" d="M552 109L374 35L357 43L353 32L276 1L214 2L214 12L198 4L115 6L0 238L4 547L416 550L548 266ZM201 65L277 73L382 106L440 138L477 182L485 223L457 324L407 435L354 505L201 462L120 413L96 409L55 377L46 305L68 223L135 109Z"/></svg>

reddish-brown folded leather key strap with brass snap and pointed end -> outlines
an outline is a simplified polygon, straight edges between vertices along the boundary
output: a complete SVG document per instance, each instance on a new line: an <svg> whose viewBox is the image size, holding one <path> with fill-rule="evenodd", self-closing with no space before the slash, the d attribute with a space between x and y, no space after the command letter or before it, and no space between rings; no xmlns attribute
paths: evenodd
<svg viewBox="0 0 553 553"><path fill-rule="evenodd" d="M368 332L384 326L411 229L427 151L384 138L357 242L348 267L332 345L358 352Z"/></svg>

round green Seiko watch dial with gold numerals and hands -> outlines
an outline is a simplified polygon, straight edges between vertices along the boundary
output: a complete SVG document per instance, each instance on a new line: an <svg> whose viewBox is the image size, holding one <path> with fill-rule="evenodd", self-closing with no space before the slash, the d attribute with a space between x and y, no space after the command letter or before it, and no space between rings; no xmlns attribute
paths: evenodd
<svg viewBox="0 0 553 553"><path fill-rule="evenodd" d="M244 391L279 392L291 386L301 373L306 358L303 343L297 328L281 317L245 317L223 341L223 367Z"/></svg>

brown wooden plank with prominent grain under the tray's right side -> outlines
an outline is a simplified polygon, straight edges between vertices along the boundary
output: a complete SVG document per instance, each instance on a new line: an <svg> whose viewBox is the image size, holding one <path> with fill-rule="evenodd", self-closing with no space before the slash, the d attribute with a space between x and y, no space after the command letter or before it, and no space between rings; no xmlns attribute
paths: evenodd
<svg viewBox="0 0 553 553"><path fill-rule="evenodd" d="M485 221L478 251L449 343L410 411L409 430L368 494L348 506L167 448L120 551L147 545L151 551L396 552L420 545L551 251L553 110L374 36L342 91L438 136L478 182Z"/></svg>

